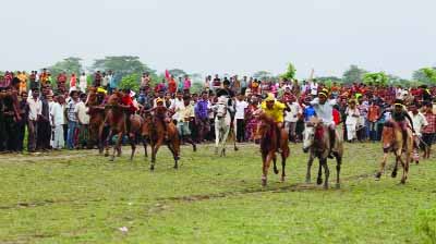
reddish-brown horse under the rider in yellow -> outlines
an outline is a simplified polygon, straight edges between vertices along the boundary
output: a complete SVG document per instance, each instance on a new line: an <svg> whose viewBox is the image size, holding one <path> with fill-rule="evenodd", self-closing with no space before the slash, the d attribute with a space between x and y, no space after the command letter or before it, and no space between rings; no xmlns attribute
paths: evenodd
<svg viewBox="0 0 436 244"><path fill-rule="evenodd" d="M261 141L261 154L263 162L262 185L266 186L267 184L267 174L271 161L274 163L274 172L276 174L279 173L276 164L276 152L278 150L280 150L281 155L281 182L283 182L286 176L286 160L289 157L288 133L284 131L284 129L279 129L277 123L274 122L272 118L266 115L265 113L258 115L258 121L255 139ZM278 133L280 133L280 142L278 142Z"/></svg>

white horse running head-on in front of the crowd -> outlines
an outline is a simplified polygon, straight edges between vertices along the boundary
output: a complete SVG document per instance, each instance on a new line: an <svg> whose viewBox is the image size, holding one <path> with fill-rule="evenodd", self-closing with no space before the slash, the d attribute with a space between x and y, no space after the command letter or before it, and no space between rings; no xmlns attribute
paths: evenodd
<svg viewBox="0 0 436 244"><path fill-rule="evenodd" d="M218 154L219 146L221 147L220 156L226 156L226 142L230 132L231 117L233 108L228 106L229 98L221 96L218 102L213 106L214 111L217 113L215 117L215 154Z"/></svg>

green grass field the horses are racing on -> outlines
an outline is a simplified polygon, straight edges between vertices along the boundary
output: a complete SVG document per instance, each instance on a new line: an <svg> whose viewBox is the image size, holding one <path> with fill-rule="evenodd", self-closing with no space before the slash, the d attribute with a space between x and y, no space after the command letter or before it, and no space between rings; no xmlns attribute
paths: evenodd
<svg viewBox="0 0 436 244"><path fill-rule="evenodd" d="M116 162L94 150L0 156L0 243L423 243L436 229L434 158L405 185L390 170L376 182L380 145L347 144L342 187L324 191L304 183L301 145L287 182L270 169L267 187L257 146L229 148L183 147L177 171L165 148L155 172L129 148Z"/></svg>

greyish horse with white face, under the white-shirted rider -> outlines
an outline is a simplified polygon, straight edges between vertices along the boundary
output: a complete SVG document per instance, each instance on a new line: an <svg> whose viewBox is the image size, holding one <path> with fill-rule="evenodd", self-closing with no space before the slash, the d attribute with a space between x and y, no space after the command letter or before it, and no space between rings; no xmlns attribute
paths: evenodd
<svg viewBox="0 0 436 244"><path fill-rule="evenodd" d="M316 183L318 185L323 184L323 171L324 168L325 181L324 188L328 188L328 178L330 171L327 164L327 158L330 152L330 147L332 146L332 154L336 158L336 187L340 188L340 170L342 164L343 156L343 142L341 136L335 133L335 145L330 145L330 133L327 125L324 125L318 118L312 118L311 121L306 123L305 130L303 132L303 151L310 152L307 161L307 172L306 172L306 183L311 183L311 169L315 158L319 160L318 176Z"/></svg>

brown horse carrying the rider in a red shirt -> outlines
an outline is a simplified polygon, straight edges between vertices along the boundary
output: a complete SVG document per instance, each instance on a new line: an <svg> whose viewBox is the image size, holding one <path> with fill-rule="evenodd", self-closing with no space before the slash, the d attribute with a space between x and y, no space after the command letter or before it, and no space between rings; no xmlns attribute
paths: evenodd
<svg viewBox="0 0 436 244"><path fill-rule="evenodd" d="M126 118L124 112L124 108L120 107L120 93L113 93L109 99L108 105L106 106L106 115L105 115L105 123L109 125L109 135L106 138L106 154L105 156L109 156L109 142L111 141L112 136L117 134L117 143L113 146L113 152L110 156L110 161L114 160L116 150L118 151L118 156L121 155L121 142L123 135L129 133L129 143L132 147L132 154L130 156L130 160L133 160L133 156L135 155L136 150L136 142L135 135L141 132L142 126L144 124L144 119L137 114L132 114L130 118ZM130 131L126 131L126 120L130 120L131 126ZM143 138L145 155L147 156L147 147L145 139Z"/></svg>

